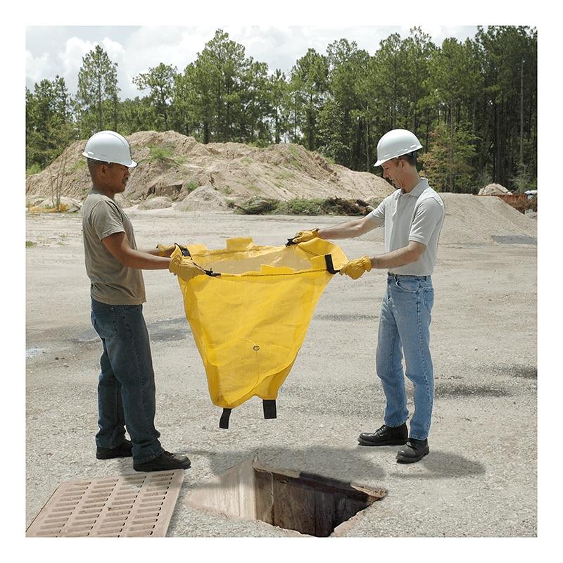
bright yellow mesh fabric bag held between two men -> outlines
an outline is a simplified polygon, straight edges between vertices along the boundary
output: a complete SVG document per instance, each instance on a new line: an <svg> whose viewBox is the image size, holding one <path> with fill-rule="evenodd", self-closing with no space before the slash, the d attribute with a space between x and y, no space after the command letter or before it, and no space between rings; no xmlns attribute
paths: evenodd
<svg viewBox="0 0 563 563"><path fill-rule="evenodd" d="M213 404L277 398L332 277L324 257L339 270L346 255L323 239L286 247L239 238L222 250L188 248L196 264L221 274L178 278Z"/></svg>

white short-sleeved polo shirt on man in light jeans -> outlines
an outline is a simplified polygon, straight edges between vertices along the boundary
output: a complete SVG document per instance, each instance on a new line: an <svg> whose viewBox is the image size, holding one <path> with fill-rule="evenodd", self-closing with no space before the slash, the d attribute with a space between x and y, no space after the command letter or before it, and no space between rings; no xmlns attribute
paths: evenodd
<svg viewBox="0 0 563 563"><path fill-rule="evenodd" d="M434 271L438 238L445 215L442 198L429 185L426 178L409 192L398 189L387 196L369 217L372 227L384 226L385 252L396 251L416 241L426 246L416 262L391 268L391 274L429 276Z"/></svg>

